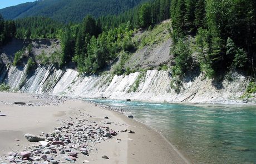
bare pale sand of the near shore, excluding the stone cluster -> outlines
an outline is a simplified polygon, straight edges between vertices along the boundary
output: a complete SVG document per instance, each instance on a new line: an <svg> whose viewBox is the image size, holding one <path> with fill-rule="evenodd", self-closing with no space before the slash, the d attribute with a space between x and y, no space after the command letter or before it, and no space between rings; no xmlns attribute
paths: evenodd
<svg viewBox="0 0 256 164"><path fill-rule="evenodd" d="M19 106L14 105L14 101L41 105ZM117 131L132 130L135 133L119 132L114 138L96 143L89 156L79 154L76 163L83 163L85 160L88 163L190 163L160 133L121 113L80 100L61 101L58 106L45 105L47 103L51 104L51 101L24 93L0 92L0 113L7 115L0 117L0 156L10 152L9 148L22 151L29 146L31 143L24 138L25 133L39 135L42 132L52 132L62 121L80 117L82 112L88 115L86 119L90 121L103 122L107 116L107 121L112 122L108 127ZM16 141L16 138L20 141ZM117 141L117 138L121 141ZM106 160L102 155L107 155L110 159Z"/></svg>

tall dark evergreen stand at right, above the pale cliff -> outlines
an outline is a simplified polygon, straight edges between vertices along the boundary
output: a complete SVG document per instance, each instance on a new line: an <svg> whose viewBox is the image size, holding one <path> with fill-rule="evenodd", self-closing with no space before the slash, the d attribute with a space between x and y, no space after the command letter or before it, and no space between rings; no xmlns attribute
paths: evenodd
<svg viewBox="0 0 256 164"><path fill-rule="evenodd" d="M182 52L188 45L182 44L188 44L184 37L191 35L196 38L197 59L206 76L215 77L232 69L255 76L256 1L173 0L170 12L176 63L179 59L184 61ZM186 58L191 58L190 53ZM178 65L174 69L176 74L191 66Z"/></svg>

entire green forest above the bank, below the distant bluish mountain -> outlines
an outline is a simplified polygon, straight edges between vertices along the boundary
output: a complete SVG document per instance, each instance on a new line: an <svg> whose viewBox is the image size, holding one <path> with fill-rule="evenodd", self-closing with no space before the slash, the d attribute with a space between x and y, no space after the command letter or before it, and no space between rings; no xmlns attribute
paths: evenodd
<svg viewBox="0 0 256 164"><path fill-rule="evenodd" d="M134 52L132 34L136 29L150 30L170 18L171 71L177 82L196 68L208 78L234 70L255 77L254 0L154 0L120 14L87 15L81 23L68 24L44 17L17 19L15 23L0 18L1 44L13 36L61 39L57 64L63 67L73 61L80 72L88 74L99 73L120 57L120 52Z"/></svg>

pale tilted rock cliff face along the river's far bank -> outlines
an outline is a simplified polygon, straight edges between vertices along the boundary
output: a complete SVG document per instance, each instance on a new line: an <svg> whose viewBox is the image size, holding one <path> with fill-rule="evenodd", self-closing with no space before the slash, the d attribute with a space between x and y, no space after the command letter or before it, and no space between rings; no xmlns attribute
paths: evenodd
<svg viewBox="0 0 256 164"><path fill-rule="evenodd" d="M242 102L249 79L234 73L233 81L215 84L200 74L183 83L180 93L171 88L171 74L168 71L149 70L129 75L80 76L73 69L57 69L54 66L39 66L30 76L23 67L2 66L0 81L8 83L12 91L51 94L72 97L159 102ZM192 96L191 96L192 95ZM187 99L186 99L187 98Z"/></svg>

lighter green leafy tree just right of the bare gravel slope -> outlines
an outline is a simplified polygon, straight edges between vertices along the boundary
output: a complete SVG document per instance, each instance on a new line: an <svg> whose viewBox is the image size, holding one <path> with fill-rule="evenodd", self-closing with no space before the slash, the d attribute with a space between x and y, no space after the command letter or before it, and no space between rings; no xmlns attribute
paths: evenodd
<svg viewBox="0 0 256 164"><path fill-rule="evenodd" d="M193 59L188 43L179 39L175 50L175 65L172 67L173 75L183 77L185 72L192 68Z"/></svg>

